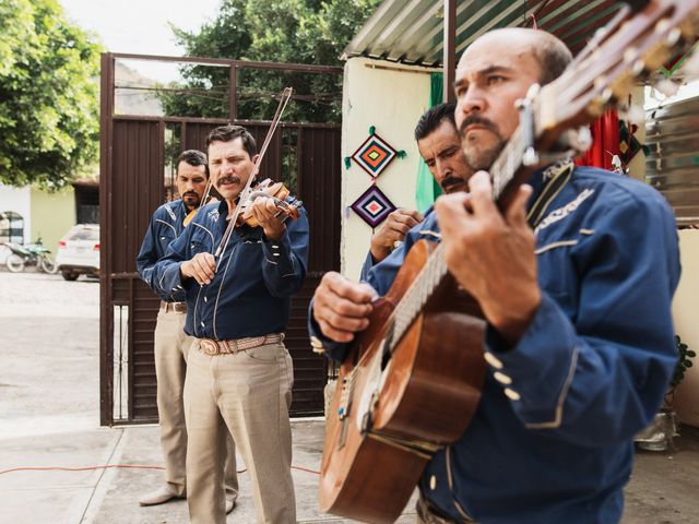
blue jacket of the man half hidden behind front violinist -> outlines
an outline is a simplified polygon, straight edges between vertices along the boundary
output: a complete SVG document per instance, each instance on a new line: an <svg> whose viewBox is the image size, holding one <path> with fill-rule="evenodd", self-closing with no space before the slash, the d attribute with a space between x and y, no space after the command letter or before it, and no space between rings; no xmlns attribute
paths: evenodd
<svg viewBox="0 0 699 524"><path fill-rule="evenodd" d="M157 261L165 257L170 242L179 237L185 229L187 214L185 203L181 200L176 200L161 205L151 217L141 251L135 259L135 269L141 278L156 293L158 289L154 282L155 273L153 270ZM158 293L158 295L161 294ZM185 300L185 291L179 290L163 295L163 299L168 302L180 302Z"/></svg>

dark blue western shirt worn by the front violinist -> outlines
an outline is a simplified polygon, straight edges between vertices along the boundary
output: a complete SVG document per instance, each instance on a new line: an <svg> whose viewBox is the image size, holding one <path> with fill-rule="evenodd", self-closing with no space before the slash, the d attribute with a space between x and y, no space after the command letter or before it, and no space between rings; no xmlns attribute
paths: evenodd
<svg viewBox="0 0 699 524"><path fill-rule="evenodd" d="M188 335L223 341L286 329L291 296L301 288L308 265L308 217L303 207L275 242L264 238L261 227L236 227L211 284L200 286L194 278L182 282L179 266L197 253L215 253L228 205L215 202L199 210L155 266L161 296L186 293Z"/></svg>

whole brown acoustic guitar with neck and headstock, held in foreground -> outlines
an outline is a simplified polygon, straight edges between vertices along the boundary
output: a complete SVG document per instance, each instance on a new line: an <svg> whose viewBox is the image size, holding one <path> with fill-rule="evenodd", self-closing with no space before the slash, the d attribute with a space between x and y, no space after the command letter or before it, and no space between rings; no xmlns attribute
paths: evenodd
<svg viewBox="0 0 699 524"><path fill-rule="evenodd" d="M559 79L532 86L519 104L520 126L489 169L500 209L536 169L589 147L589 122L696 41L699 0L628 3ZM415 243L340 369L327 418L322 511L395 521L431 455L467 430L486 372L485 321L441 251Z"/></svg>

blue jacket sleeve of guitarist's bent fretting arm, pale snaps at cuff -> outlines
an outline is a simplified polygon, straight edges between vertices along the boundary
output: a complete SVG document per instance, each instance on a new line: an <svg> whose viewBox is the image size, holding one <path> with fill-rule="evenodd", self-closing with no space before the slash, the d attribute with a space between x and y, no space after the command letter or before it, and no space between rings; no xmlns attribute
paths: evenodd
<svg viewBox="0 0 699 524"><path fill-rule="evenodd" d="M672 213L649 201L659 204L607 205L594 233L571 248L573 313L544 289L513 347L486 330L490 372L526 428L579 445L615 444L656 413L677 359L671 301L679 259Z"/></svg>

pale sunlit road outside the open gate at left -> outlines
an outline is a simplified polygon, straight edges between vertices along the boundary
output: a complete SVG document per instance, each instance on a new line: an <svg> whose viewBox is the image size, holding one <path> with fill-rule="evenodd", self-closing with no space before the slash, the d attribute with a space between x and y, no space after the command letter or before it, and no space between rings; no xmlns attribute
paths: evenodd
<svg viewBox="0 0 699 524"><path fill-rule="evenodd" d="M0 272L0 438L98 426L99 282Z"/></svg>

